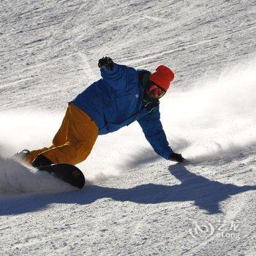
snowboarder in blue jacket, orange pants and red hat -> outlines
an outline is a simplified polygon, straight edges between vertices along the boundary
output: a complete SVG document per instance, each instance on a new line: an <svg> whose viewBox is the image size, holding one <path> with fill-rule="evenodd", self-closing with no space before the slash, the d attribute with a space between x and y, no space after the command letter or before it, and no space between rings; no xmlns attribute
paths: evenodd
<svg viewBox="0 0 256 256"><path fill-rule="evenodd" d="M102 79L92 83L69 102L52 146L20 151L15 157L39 167L53 163L83 162L98 135L115 132L138 121L154 151L165 159L183 162L170 148L159 113L159 99L174 78L164 65L154 72L116 64L110 57L99 59Z"/></svg>

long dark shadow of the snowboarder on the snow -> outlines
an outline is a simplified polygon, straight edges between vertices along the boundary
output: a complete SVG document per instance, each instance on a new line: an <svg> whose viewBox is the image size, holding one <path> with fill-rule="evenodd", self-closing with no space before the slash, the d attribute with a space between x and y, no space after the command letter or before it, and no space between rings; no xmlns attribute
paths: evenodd
<svg viewBox="0 0 256 256"><path fill-rule="evenodd" d="M220 213L219 203L230 195L255 190L256 186L236 186L211 181L203 176L189 172L184 165L172 165L168 168L181 184L160 185L143 184L130 189L117 189L93 185L82 191L59 194L30 194L0 197L0 215L21 214L37 211L50 203L78 203L89 205L100 198L112 198L116 201L129 201L139 204L193 201L198 208L209 214ZM121 179L120 179L121 180Z"/></svg>

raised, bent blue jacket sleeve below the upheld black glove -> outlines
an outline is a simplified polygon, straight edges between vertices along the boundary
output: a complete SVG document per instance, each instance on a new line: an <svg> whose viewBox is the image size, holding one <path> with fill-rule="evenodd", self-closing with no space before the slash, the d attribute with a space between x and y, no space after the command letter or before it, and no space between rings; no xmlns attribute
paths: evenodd
<svg viewBox="0 0 256 256"><path fill-rule="evenodd" d="M127 87L138 83L138 75L134 68L114 63L113 71L102 67L100 69L103 80L115 90L125 91Z"/></svg>

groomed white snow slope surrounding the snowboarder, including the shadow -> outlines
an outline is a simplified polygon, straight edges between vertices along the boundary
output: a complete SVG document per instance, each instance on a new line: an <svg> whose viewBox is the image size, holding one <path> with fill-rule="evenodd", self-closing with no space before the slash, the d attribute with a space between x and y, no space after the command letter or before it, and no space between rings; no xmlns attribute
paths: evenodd
<svg viewBox="0 0 256 256"><path fill-rule="evenodd" d="M253 1L3 1L0 255L255 255ZM138 124L101 136L76 191L10 160L50 144L97 61L176 73L161 100L173 150Z"/></svg>

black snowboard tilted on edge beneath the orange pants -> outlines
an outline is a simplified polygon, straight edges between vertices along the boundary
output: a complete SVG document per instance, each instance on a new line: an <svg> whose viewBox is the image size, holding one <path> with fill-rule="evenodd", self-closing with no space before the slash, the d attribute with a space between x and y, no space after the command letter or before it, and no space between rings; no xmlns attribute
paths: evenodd
<svg viewBox="0 0 256 256"><path fill-rule="evenodd" d="M83 176L78 167L69 164L53 164L37 167L37 170L42 170L48 172L59 178L61 181L65 181L72 185L73 187L78 187L78 189L83 189L86 179Z"/></svg>

